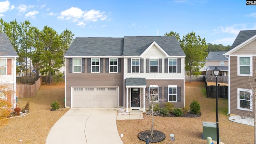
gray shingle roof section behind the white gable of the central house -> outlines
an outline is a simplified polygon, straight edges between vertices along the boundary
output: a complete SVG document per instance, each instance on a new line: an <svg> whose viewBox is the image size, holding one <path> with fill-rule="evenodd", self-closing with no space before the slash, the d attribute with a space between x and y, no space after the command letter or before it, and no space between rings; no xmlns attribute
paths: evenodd
<svg viewBox="0 0 256 144"><path fill-rule="evenodd" d="M185 56L174 36L125 36L124 56L140 56L156 42L169 56Z"/></svg>

